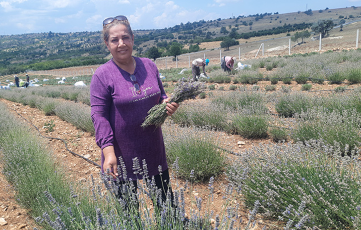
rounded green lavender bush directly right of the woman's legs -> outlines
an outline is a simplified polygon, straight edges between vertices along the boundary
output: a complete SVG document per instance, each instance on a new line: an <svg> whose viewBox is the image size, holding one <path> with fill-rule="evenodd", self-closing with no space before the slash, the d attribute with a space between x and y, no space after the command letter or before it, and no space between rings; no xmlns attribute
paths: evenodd
<svg viewBox="0 0 361 230"><path fill-rule="evenodd" d="M181 178L192 179L193 170L192 180L204 182L224 170L225 157L217 147L219 141L209 132L180 129L176 134L166 133L165 143L169 162L178 162Z"/></svg>

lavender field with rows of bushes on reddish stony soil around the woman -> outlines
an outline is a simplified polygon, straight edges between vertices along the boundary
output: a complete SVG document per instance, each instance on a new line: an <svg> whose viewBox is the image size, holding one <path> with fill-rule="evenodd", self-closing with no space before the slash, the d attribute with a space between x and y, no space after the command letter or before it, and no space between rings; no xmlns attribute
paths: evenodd
<svg viewBox="0 0 361 230"><path fill-rule="evenodd" d="M176 210L169 200L163 209L151 205L157 199L146 186L151 179L138 182L139 212L134 197L126 209L115 200L114 184L99 175L87 189L64 181L66 173L54 169L46 144L27 125L17 125L3 105L2 173L36 228L360 229L360 60L361 51L350 50L248 60L250 68L230 75L208 66L206 92L182 102L163 125ZM168 94L191 74L180 71L163 72ZM94 134L88 87L0 90L0 98ZM240 148L235 140L251 144ZM137 173L146 173L137 160ZM47 177L39 177L43 170ZM14 174L19 171L27 173ZM225 182L224 195L215 198L217 180ZM185 191L197 184L207 184L208 193L190 194L186 202ZM34 193L25 192L33 187ZM223 203L216 210L214 199ZM242 219L244 210L249 215Z"/></svg>

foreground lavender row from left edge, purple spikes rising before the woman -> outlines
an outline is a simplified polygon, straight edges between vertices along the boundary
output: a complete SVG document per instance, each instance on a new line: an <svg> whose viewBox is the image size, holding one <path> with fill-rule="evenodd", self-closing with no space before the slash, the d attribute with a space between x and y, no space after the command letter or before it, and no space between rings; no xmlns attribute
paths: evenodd
<svg viewBox="0 0 361 230"><path fill-rule="evenodd" d="M170 194L159 207L148 206L146 200L156 203L160 193L155 189L154 180L147 175L146 162L140 163L136 158L133 160L134 173L145 178L137 180L136 194L130 193L133 183L129 182L121 188L128 195L118 200L117 184L105 175L101 175L100 179L91 177L90 184L78 184L78 187L71 180L64 180L66 172L59 167L59 163L54 165L54 155L45 143L25 125L19 126L19 121L2 105L0 124L0 163L3 173L16 189L17 200L29 209L36 222L45 229L198 230L211 229L210 220L213 218L216 219L217 229L226 230L234 226L238 219L238 208L231 206L233 190L230 186L225 188L224 210L215 215L209 209L214 193L214 178L210 179L209 194L204 200L191 195L191 206L185 206L185 191L192 190L194 171L189 172L190 183L184 186L180 186L172 176L176 209L171 206ZM119 174L127 181L124 167L120 159ZM176 162L173 167L175 171L179 168ZM188 222L184 222L185 216Z"/></svg>

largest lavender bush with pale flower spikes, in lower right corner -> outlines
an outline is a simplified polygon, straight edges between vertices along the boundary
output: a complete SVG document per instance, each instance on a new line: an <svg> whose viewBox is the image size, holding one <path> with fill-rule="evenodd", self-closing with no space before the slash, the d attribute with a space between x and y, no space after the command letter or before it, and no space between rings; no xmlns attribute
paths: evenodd
<svg viewBox="0 0 361 230"><path fill-rule="evenodd" d="M231 162L227 176L247 207L259 200L260 212L284 225L360 229L351 218L360 215L360 170L338 149L308 141L251 149Z"/></svg>

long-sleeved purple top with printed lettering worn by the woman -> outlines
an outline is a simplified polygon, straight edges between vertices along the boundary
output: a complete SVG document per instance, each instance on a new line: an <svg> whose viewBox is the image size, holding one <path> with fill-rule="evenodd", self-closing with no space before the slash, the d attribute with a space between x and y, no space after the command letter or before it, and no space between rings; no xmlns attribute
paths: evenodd
<svg viewBox="0 0 361 230"><path fill-rule="evenodd" d="M130 74L112 60L100 66L90 84L91 118L95 128L97 145L103 148L113 145L118 159L124 160L127 177L141 179L133 174L132 159L137 157L142 167L145 159L148 175L159 174L168 169L162 129L141 124L154 105L167 98L159 78L157 66L148 58L134 57L134 75L140 86L137 94ZM104 154L102 151L102 171ZM121 179L121 178L120 178Z"/></svg>

